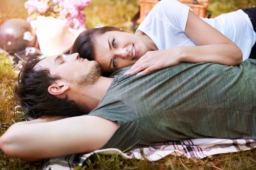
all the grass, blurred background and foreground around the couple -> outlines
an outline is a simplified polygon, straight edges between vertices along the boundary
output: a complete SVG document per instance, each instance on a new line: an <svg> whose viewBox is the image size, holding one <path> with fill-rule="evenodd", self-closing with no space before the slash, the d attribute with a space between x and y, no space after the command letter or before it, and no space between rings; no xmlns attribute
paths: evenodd
<svg viewBox="0 0 256 170"><path fill-rule="evenodd" d="M10 18L26 18L26 0L1 0L0 24ZM252 7L255 0L210 0L208 10L220 15ZM130 20L138 11L138 0L92 0L86 11L86 27L118 26L130 30ZM24 121L26 110L15 110L13 84L20 65L9 55L0 54L0 135L17 121ZM29 139L28 139L29 140ZM45 160L28 163L7 157L0 150L0 170L40 170ZM256 149L213 155L204 159L167 156L158 161L123 159L118 155L92 155L81 170L256 170Z"/></svg>

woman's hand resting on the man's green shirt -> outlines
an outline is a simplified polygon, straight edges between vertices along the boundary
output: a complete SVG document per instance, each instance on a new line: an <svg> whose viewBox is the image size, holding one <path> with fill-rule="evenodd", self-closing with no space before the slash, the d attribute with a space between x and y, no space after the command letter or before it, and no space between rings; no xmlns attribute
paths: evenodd
<svg viewBox="0 0 256 170"><path fill-rule="evenodd" d="M180 63L180 60L175 55L178 48L148 51L143 55L124 75L130 75L136 72L137 75L150 73L168 66L174 66Z"/></svg>

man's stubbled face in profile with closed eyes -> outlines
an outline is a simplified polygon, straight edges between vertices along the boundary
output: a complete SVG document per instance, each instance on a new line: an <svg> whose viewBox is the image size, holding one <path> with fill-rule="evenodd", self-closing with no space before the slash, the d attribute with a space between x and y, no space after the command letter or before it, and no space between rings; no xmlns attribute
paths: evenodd
<svg viewBox="0 0 256 170"><path fill-rule="evenodd" d="M101 76L99 63L80 58L78 53L65 58L60 55L47 57L38 62L36 67L48 68L51 75L58 75L78 86L93 85Z"/></svg>

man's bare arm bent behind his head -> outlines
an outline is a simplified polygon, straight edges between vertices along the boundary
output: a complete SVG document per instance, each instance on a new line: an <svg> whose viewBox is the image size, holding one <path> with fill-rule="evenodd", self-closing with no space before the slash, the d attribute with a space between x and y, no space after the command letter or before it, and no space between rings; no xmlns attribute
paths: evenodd
<svg viewBox="0 0 256 170"><path fill-rule="evenodd" d="M18 122L0 137L6 155L37 161L100 149L119 125L97 116Z"/></svg>

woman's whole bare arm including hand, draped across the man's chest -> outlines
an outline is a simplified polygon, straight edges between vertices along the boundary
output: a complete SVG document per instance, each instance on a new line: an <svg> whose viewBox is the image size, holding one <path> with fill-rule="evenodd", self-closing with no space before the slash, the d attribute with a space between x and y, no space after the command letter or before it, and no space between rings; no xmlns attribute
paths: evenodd
<svg viewBox="0 0 256 170"><path fill-rule="evenodd" d="M189 10L185 33L197 46L148 51L126 72L126 75L136 72L139 72L137 75L149 73L180 62L218 62L236 66L243 60L242 51L234 42L191 10Z"/></svg>

